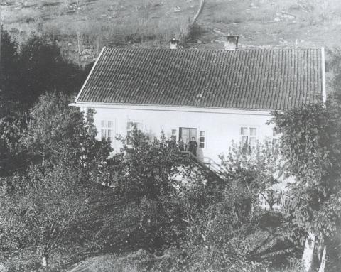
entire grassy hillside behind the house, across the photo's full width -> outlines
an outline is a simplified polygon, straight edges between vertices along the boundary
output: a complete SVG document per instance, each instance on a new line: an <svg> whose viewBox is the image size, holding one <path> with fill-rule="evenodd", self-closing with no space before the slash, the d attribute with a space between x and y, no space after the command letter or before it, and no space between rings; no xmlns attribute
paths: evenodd
<svg viewBox="0 0 341 272"><path fill-rule="evenodd" d="M245 47L340 45L338 0L6 0L1 23L19 43L31 33L57 40L67 58L91 62L104 45L217 48L227 33Z"/></svg>

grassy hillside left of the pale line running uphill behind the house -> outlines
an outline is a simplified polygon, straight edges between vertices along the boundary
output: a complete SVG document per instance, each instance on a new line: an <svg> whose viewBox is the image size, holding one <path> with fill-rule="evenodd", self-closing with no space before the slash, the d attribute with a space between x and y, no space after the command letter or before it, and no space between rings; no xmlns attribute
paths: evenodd
<svg viewBox="0 0 341 272"><path fill-rule="evenodd" d="M183 40L200 0L6 0L1 23L19 43L31 33L57 40L75 62L90 62L103 45L158 47Z"/></svg>

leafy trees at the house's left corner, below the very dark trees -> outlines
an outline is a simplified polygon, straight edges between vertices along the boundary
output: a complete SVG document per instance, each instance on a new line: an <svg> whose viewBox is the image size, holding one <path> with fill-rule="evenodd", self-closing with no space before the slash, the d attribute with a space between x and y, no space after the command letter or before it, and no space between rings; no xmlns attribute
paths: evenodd
<svg viewBox="0 0 341 272"><path fill-rule="evenodd" d="M97 141L94 111L87 116L68 107L70 99L53 92L40 96L28 114L0 119L0 175L24 171L30 163L64 163L85 173L101 170L111 148ZM97 167L98 166L98 167Z"/></svg>

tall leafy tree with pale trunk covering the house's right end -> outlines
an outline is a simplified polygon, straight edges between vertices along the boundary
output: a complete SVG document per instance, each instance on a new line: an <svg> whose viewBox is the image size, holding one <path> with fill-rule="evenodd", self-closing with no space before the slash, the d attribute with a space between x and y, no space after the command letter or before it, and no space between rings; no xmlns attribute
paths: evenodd
<svg viewBox="0 0 341 272"><path fill-rule="evenodd" d="M291 234L304 239L303 266L310 271L314 247L326 250L341 217L341 103L340 94L326 104L310 104L275 113L281 134L281 155L289 185L286 218ZM319 251L319 258L323 251ZM320 254L321 253L321 254ZM321 271L323 271L321 262Z"/></svg>

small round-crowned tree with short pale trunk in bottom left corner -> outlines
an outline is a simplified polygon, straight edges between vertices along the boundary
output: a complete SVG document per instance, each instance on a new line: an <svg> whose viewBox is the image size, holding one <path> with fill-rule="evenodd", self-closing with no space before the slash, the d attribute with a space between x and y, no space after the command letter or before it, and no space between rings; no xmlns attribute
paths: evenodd
<svg viewBox="0 0 341 272"><path fill-rule="evenodd" d="M82 223L93 214L90 200L95 192L82 185L77 174L65 165L48 171L33 167L27 177L11 178L2 187L1 241L8 251L38 252L41 265L48 266L55 249L84 239Z"/></svg>

